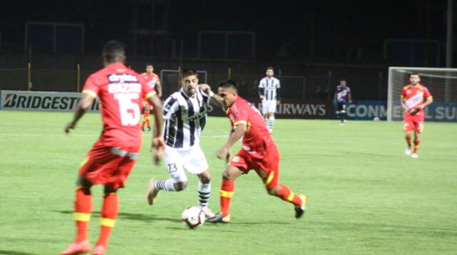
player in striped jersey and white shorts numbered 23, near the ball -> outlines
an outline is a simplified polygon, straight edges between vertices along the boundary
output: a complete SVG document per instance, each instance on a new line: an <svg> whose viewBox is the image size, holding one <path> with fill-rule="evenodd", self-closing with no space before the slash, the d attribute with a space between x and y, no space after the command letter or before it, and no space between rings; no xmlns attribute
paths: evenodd
<svg viewBox="0 0 457 255"><path fill-rule="evenodd" d="M187 186L184 169L199 177L199 207L206 217L214 217L208 208L211 194L211 175L208 162L199 145L199 137L206 124L206 110L214 93L209 85L200 84L194 69L184 69L180 75L181 90L164 102L164 162L170 179L151 179L147 200L154 204L159 190L179 192ZM214 100L218 102L219 100ZM219 103L220 105L221 103Z"/></svg>

